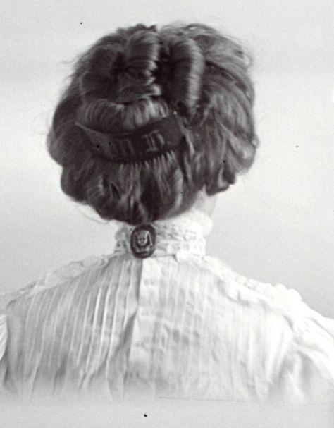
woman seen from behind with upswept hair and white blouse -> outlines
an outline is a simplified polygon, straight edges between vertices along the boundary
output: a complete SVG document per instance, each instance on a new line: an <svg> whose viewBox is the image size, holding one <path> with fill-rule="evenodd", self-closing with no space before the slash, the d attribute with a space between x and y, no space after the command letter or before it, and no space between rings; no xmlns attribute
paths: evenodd
<svg viewBox="0 0 334 428"><path fill-rule="evenodd" d="M75 66L48 139L61 187L122 222L1 315L6 393L295 400L334 389L334 322L295 291L205 255L216 195L258 145L240 44L205 25L137 25Z"/></svg>

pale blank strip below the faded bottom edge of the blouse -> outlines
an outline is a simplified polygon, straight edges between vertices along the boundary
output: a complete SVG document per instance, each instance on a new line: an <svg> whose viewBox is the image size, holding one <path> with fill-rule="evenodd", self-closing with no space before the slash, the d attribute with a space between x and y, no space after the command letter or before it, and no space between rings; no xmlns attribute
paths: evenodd
<svg viewBox="0 0 334 428"><path fill-rule="evenodd" d="M162 400L109 408L66 403L0 410L1 428L333 428L334 422L327 403Z"/></svg>

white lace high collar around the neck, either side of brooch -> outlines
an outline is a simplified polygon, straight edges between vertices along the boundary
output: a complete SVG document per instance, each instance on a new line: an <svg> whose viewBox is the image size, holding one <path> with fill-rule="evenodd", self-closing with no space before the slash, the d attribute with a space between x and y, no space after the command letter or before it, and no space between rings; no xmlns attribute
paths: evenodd
<svg viewBox="0 0 334 428"><path fill-rule="evenodd" d="M212 230L211 218L198 209L189 211L168 219L150 223L156 234L156 247L150 257L175 255L205 255L205 236ZM131 249L131 236L136 226L120 224L116 232L115 252L119 254L134 254Z"/></svg>

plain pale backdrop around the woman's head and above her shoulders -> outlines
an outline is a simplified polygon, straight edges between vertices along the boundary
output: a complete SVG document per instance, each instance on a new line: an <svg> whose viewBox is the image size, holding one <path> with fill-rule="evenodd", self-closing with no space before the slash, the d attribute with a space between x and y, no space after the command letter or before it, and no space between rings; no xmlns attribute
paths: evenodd
<svg viewBox="0 0 334 428"><path fill-rule="evenodd" d="M116 27L200 21L253 52L261 140L208 252L334 317L333 0L2 0L0 20L1 292L113 250L115 224L61 193L45 148L70 61Z"/></svg>

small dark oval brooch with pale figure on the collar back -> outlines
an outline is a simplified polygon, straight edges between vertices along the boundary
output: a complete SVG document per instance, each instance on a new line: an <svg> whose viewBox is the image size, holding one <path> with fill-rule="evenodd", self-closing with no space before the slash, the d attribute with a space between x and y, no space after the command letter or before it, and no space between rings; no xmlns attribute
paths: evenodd
<svg viewBox="0 0 334 428"><path fill-rule="evenodd" d="M133 255L144 259L154 253L156 249L156 231L150 224L137 226L133 229L130 238L130 247Z"/></svg>

